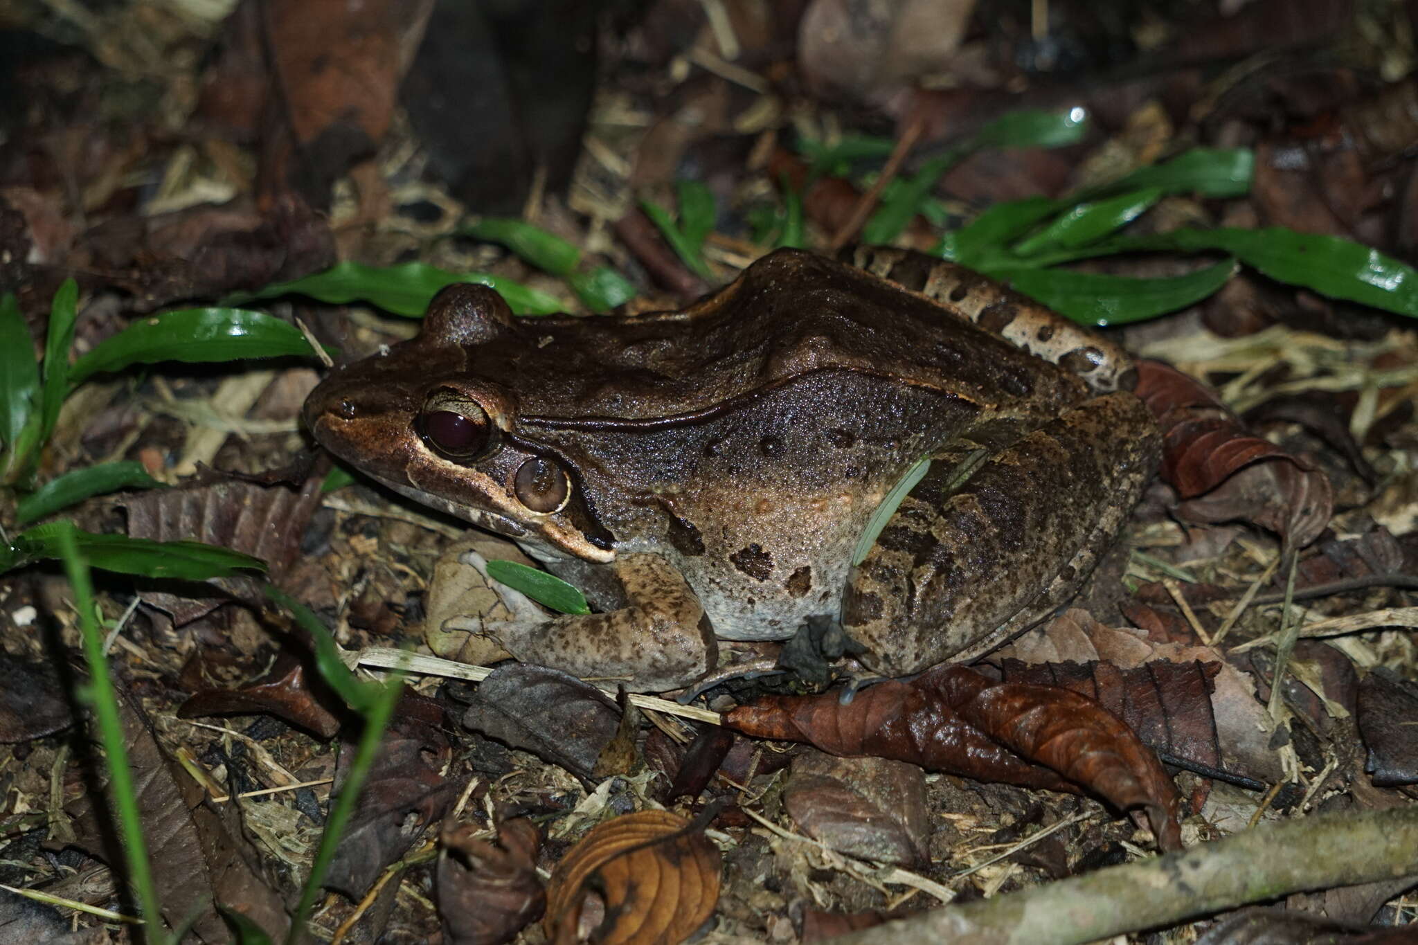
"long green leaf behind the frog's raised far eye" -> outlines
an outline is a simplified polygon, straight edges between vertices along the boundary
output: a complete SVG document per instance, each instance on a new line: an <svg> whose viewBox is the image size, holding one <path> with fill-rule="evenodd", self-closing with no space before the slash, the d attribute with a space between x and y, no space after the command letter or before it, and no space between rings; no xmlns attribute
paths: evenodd
<svg viewBox="0 0 1418 945"><path fill-rule="evenodd" d="M294 282L268 285L259 292L233 296L227 302L305 295L329 305L367 302L391 315L421 319L438 290L455 282L475 282L496 289L498 295L506 299L508 306L518 315L552 315L563 309L560 302L545 292L482 272L448 272L423 262L366 266L347 259L325 272L316 272Z"/></svg>

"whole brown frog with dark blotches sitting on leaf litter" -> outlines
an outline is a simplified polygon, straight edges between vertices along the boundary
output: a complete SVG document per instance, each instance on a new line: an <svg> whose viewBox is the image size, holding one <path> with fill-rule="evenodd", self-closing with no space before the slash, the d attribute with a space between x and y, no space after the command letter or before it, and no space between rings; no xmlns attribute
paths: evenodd
<svg viewBox="0 0 1418 945"><path fill-rule="evenodd" d="M883 676L1039 623L1159 465L1134 383L1115 341L953 262L784 248L678 309L519 317L451 285L415 337L330 371L303 418L590 602L508 592L469 618L479 633L668 691L715 670L720 640L810 621Z"/></svg>

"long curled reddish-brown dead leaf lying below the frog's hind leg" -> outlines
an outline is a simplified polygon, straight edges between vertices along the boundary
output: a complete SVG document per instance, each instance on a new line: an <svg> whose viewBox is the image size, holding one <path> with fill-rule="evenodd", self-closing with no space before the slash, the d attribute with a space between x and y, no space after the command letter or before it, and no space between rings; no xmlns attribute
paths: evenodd
<svg viewBox="0 0 1418 945"><path fill-rule="evenodd" d="M939 666L845 706L837 693L770 696L723 723L835 755L896 758L1027 788L1086 788L1120 809L1141 808L1159 844L1181 847L1177 789L1157 755L1096 701L1056 686L995 683L964 666Z"/></svg>

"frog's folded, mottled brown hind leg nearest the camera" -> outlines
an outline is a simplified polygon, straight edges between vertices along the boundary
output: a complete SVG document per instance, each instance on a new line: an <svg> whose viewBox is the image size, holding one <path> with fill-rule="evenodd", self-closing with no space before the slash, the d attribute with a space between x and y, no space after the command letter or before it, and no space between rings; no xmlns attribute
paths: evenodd
<svg viewBox="0 0 1418 945"><path fill-rule="evenodd" d="M933 463L852 571L862 662L900 676L980 656L1066 602L1132 511L1160 438L1132 394L1093 398L964 482Z"/></svg>

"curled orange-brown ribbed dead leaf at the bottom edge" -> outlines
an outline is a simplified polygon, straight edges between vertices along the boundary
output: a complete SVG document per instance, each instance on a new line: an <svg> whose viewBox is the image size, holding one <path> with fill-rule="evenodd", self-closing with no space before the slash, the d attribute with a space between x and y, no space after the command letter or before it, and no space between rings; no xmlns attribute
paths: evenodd
<svg viewBox="0 0 1418 945"><path fill-rule="evenodd" d="M590 925L588 897L604 914ZM547 884L547 936L557 945L674 945L719 902L719 849L682 817L641 810L594 827Z"/></svg>

